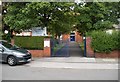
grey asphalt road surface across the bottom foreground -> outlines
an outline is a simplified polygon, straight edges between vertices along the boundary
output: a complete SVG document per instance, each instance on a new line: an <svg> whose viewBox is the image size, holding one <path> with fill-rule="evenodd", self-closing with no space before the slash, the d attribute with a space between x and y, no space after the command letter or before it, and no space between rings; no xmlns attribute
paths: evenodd
<svg viewBox="0 0 120 82"><path fill-rule="evenodd" d="M2 65L3 80L118 80L117 69L54 69Z"/></svg>

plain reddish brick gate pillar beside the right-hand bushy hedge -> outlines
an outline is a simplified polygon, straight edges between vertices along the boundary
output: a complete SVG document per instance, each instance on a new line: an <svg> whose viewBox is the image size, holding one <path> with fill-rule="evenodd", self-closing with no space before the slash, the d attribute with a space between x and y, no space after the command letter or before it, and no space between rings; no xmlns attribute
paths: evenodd
<svg viewBox="0 0 120 82"><path fill-rule="evenodd" d="M94 57L94 51L91 48L91 38L86 38L87 57Z"/></svg>

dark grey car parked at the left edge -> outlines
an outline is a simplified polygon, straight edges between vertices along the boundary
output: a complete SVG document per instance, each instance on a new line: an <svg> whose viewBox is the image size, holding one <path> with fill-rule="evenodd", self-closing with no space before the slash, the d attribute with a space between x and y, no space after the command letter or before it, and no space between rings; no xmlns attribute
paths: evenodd
<svg viewBox="0 0 120 82"><path fill-rule="evenodd" d="M28 50L0 40L0 60L2 62L6 62L10 66L15 66L20 63L30 62L31 58L32 55Z"/></svg>

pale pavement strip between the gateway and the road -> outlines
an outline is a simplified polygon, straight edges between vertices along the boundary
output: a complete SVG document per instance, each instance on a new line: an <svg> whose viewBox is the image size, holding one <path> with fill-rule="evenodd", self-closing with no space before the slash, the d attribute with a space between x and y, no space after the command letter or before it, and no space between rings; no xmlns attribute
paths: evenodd
<svg viewBox="0 0 120 82"><path fill-rule="evenodd" d="M118 69L118 59L96 59L80 57L34 58L27 67L69 69Z"/></svg>

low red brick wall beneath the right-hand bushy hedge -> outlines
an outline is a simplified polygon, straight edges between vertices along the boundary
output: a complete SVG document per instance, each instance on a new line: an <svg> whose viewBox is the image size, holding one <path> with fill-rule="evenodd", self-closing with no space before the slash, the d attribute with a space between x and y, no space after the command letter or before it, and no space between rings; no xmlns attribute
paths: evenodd
<svg viewBox="0 0 120 82"><path fill-rule="evenodd" d="M120 50L114 50L111 53L95 53L96 58L120 58Z"/></svg>

